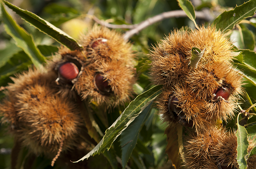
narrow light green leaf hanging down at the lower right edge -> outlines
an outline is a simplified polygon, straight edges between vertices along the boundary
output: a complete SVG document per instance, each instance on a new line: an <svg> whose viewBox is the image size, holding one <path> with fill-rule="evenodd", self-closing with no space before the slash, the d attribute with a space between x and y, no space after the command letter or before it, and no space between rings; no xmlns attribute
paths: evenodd
<svg viewBox="0 0 256 169"><path fill-rule="evenodd" d="M246 169L247 163L245 156L248 155L247 148L249 146L249 142L247 140L247 131L245 130L244 126L241 126L237 124L237 131L236 131L236 137L237 137L237 163L239 165L240 169Z"/></svg>

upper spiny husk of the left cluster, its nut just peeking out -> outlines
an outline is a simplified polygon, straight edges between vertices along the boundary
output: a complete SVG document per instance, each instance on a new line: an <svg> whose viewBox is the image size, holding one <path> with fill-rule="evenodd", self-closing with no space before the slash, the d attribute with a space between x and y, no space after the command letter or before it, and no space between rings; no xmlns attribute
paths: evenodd
<svg viewBox="0 0 256 169"><path fill-rule="evenodd" d="M130 43L125 41L122 34L106 27L94 25L92 30L82 37L84 54L87 58L80 58L84 62L119 60L127 67L134 67L134 53Z"/></svg>

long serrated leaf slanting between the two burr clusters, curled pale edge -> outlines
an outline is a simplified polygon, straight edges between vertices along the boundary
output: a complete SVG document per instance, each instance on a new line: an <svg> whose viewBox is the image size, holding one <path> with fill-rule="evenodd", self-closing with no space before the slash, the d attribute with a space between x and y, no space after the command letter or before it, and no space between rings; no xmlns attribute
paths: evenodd
<svg viewBox="0 0 256 169"><path fill-rule="evenodd" d="M102 140L95 148L76 162L83 161L92 155L104 152L109 149L116 138L139 116L139 114L161 93L162 85L157 85L148 91L138 95L116 121L106 130Z"/></svg>

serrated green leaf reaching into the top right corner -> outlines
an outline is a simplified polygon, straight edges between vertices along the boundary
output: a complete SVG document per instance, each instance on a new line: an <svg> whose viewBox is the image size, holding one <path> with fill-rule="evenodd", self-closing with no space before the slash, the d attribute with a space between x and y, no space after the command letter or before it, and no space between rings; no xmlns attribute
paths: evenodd
<svg viewBox="0 0 256 169"><path fill-rule="evenodd" d="M227 32L232 30L240 21L252 17L255 11L256 0L250 0L240 6L236 6L234 10L223 12L213 21L212 25L223 32Z"/></svg>

